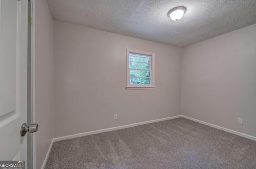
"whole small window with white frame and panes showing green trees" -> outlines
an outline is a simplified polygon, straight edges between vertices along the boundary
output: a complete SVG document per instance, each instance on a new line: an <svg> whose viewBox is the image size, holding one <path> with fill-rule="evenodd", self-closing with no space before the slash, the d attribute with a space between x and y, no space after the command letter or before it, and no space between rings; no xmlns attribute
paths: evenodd
<svg viewBox="0 0 256 169"><path fill-rule="evenodd" d="M127 49L126 89L154 89L154 53Z"/></svg>

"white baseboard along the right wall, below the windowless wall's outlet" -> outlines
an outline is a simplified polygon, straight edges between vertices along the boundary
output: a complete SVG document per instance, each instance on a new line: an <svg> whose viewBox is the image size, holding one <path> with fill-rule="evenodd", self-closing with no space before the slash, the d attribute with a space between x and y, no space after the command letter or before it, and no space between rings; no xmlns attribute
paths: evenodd
<svg viewBox="0 0 256 169"><path fill-rule="evenodd" d="M227 131L229 133L232 133L232 134L235 134L235 135L239 135L239 136L242 136L242 137L245 137L245 138L248 138L248 139L252 139L254 141L256 141L256 137L254 136L251 136L251 135L247 135L247 134L244 134L244 133L240 133L238 131L234 131L234 130L230 130L230 129L227 129L227 128L224 128L224 127L220 127L218 125L214 125L214 124L211 124L211 123L207 123L207 122L204 122L204 121L201 121L201 120L198 120L198 119L193 119L191 117L188 117L188 116L185 116L185 115L181 115L181 117L184 117L186 119L190 119L192 121L196 121L198 123L202 123L204 125L208 125L208 126L211 126L211 127L214 127L216 129L220 129L220 130L223 130L223 131Z"/></svg>

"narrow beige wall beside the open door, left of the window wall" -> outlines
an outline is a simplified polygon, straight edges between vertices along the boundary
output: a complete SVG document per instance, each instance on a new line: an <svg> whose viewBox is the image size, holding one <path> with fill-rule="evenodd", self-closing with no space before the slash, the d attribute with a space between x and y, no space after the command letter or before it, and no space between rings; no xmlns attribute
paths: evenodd
<svg viewBox="0 0 256 169"><path fill-rule="evenodd" d="M35 6L36 168L40 169L53 138L53 20L46 0Z"/></svg>

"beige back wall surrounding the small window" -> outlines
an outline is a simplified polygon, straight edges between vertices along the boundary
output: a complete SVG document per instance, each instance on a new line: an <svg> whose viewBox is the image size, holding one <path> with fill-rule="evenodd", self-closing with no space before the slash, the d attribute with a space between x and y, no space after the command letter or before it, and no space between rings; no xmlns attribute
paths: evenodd
<svg viewBox="0 0 256 169"><path fill-rule="evenodd" d="M156 89L125 89L126 48L155 53ZM180 55L177 47L54 20L54 137L180 115Z"/></svg>

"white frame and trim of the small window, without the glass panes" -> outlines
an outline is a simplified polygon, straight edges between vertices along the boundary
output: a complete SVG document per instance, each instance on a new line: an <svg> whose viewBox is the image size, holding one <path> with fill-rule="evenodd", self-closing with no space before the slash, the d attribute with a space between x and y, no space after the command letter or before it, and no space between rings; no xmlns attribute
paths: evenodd
<svg viewBox="0 0 256 169"><path fill-rule="evenodd" d="M130 85L129 53L140 54L150 57L150 85ZM132 69L133 70L133 69ZM154 89L155 87L155 54L140 50L126 49L126 89Z"/></svg>

